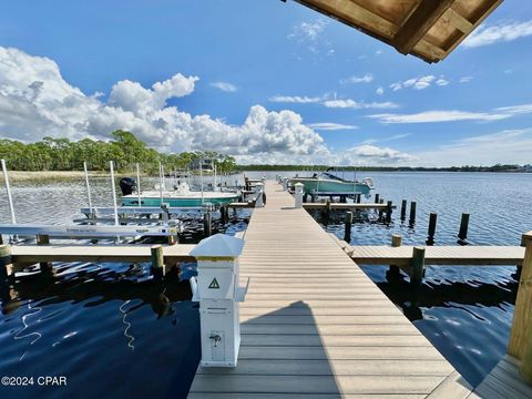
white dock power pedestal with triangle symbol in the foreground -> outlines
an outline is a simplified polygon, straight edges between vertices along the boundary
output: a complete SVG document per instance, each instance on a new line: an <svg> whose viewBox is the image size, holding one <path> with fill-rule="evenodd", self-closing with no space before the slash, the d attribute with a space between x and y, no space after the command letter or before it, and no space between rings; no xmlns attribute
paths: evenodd
<svg viewBox="0 0 532 399"><path fill-rule="evenodd" d="M245 287L238 285L238 256L244 239L216 234L203 239L191 255L197 259L191 279L193 300L200 301L203 367L236 367L241 347L239 304ZM197 287L197 289L195 289Z"/></svg>

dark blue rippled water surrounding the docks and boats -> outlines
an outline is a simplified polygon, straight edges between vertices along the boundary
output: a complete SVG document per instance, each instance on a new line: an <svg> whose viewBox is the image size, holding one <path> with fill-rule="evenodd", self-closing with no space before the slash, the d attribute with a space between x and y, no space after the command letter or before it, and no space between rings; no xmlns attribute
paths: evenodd
<svg viewBox="0 0 532 399"><path fill-rule="evenodd" d="M249 174L252 177L259 174ZM275 173L267 174L274 177ZM293 174L288 174L293 175ZM390 226L369 213L354 224L352 244L422 244L428 214L438 213L436 245L456 244L462 212L471 213L469 242L519 245L532 229L532 175L481 173L370 173L385 200L417 201L415 228L397 212ZM347 175L346 175L347 177ZM360 176L364 177L364 176ZM232 177L234 180L234 177ZM86 205L82 182L13 184L19 222L69 223ZM109 181L93 185L95 205L110 205ZM239 211L221 229L246 227ZM344 215L324 221L344 235ZM9 222L4 195L0 222ZM190 241L197 241L191 236ZM194 273L194 264L183 265ZM515 299L515 267L429 267L420 288L387 279L386 267L365 272L464 377L478 383L504 354ZM147 264L58 264L33 269L2 293L1 376L65 376L61 388L4 388L0 397L183 397L200 359L198 314L188 283L156 283Z"/></svg>

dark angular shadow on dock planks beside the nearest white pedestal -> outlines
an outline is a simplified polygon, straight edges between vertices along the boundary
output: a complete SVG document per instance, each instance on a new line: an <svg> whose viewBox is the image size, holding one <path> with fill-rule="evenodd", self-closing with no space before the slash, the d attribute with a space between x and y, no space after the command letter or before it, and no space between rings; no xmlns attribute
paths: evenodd
<svg viewBox="0 0 532 399"><path fill-rule="evenodd" d="M270 332L272 318L304 317L299 332L282 336ZM310 307L304 301L295 301L287 307L267 313L242 323L242 346L236 368L200 367L188 398L247 398L255 396L326 395L340 398L335 371L328 360L326 348ZM283 325L280 327L286 327ZM305 338L306 345L297 344L297 335ZM272 335L276 335L273 337ZM288 338L286 342L275 340ZM308 340L311 339L311 345Z"/></svg>

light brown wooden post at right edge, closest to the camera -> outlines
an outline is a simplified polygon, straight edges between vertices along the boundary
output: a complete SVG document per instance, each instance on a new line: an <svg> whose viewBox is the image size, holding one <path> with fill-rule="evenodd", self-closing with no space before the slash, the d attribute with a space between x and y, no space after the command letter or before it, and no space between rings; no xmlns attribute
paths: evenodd
<svg viewBox="0 0 532 399"><path fill-rule="evenodd" d="M523 235L524 259L519 282L508 354L521 360L521 375L532 382L532 232Z"/></svg>

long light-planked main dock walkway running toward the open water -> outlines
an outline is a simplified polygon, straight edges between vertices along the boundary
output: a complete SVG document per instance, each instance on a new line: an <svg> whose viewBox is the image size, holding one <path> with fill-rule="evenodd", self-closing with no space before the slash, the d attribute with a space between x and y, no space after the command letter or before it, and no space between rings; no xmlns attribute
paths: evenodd
<svg viewBox="0 0 532 399"><path fill-rule="evenodd" d="M197 369L191 398L466 398L471 387L274 182L241 257L235 369Z"/></svg>

